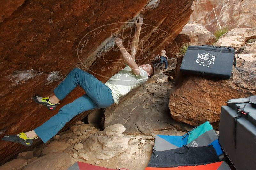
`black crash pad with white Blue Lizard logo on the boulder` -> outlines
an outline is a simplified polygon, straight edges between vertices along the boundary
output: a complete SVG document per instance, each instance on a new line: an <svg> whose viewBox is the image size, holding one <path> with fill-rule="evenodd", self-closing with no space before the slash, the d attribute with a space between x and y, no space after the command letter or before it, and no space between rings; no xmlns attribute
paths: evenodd
<svg viewBox="0 0 256 170"><path fill-rule="evenodd" d="M189 46L182 60L181 72L229 79L235 51L230 47Z"/></svg>

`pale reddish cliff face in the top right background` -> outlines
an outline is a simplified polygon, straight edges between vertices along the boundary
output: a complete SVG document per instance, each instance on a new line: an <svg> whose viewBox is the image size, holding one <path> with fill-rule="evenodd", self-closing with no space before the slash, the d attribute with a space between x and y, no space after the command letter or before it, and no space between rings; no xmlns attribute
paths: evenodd
<svg viewBox="0 0 256 170"><path fill-rule="evenodd" d="M256 0L199 0L190 22L203 24L207 30L215 32L219 29L213 8L221 27L229 30L234 28L255 28Z"/></svg>

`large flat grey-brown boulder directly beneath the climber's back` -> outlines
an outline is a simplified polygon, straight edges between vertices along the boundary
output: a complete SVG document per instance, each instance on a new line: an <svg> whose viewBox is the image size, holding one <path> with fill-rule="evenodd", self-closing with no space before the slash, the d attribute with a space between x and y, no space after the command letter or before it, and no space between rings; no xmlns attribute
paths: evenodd
<svg viewBox="0 0 256 170"><path fill-rule="evenodd" d="M124 134L140 136L172 129L191 130L190 125L179 123L171 117L168 101L174 81L157 83L157 79L166 77L157 66L155 64L155 75L145 84L121 97L118 105L106 108L104 127L119 123L126 129Z"/></svg>

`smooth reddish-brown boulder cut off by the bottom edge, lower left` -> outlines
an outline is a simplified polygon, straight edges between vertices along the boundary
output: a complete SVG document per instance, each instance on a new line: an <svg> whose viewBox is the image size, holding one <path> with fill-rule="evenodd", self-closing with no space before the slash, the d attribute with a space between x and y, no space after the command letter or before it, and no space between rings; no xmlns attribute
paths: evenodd
<svg viewBox="0 0 256 170"><path fill-rule="evenodd" d="M23 170L64 170L71 166L71 157L66 153L51 153L36 159Z"/></svg>

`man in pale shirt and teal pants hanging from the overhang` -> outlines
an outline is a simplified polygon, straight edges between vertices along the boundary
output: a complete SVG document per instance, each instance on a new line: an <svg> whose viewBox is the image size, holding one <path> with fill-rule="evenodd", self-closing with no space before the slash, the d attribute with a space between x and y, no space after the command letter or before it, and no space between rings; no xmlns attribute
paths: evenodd
<svg viewBox="0 0 256 170"><path fill-rule="evenodd" d="M126 63L124 69L112 76L105 84L79 68L73 69L54 89L53 96L34 96L33 99L38 104L54 110L58 106L58 102L63 100L77 85L81 86L86 94L60 108L56 115L34 130L16 135L7 135L2 140L19 142L25 146L30 146L33 139L39 137L46 143L76 115L87 110L106 108L113 103L118 104L121 96L126 95L132 89L145 83L154 74L154 69L150 64L138 66L135 62L142 23L142 18L138 17L135 19L135 36L131 42L131 54L124 48L122 39L115 39L115 43L122 53L122 59Z"/></svg>

